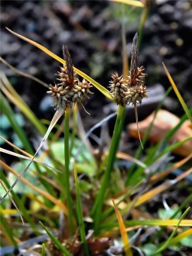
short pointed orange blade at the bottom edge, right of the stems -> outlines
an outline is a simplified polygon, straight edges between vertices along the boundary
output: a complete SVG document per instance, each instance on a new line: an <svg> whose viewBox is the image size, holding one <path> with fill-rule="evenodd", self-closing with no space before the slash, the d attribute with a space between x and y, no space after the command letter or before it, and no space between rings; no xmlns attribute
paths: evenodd
<svg viewBox="0 0 192 256"><path fill-rule="evenodd" d="M132 250L131 250L131 246L129 244L129 237L128 237L125 225L123 223L122 216L119 213L118 207L115 205L114 200L112 200L112 202L113 202L113 205L114 205L114 208L115 208L116 216L118 218L118 225L119 225L119 229L120 229L120 232L121 232L121 235L122 235L125 255L126 256L132 256Z"/></svg>

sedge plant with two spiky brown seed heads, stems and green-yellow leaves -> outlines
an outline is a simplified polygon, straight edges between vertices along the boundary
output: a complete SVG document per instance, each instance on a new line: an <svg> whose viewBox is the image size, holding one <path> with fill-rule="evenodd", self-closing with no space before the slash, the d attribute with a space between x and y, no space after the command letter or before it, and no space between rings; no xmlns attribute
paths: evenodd
<svg viewBox="0 0 192 256"><path fill-rule="evenodd" d="M142 7L142 4L138 1L135 2L135 4L139 3L139 7ZM146 19L146 18L145 18ZM141 27L140 27L141 28ZM143 28L143 26L142 26ZM142 29L141 28L141 29ZM39 215L39 218L43 220L43 222L46 222L46 225L40 223L44 230L46 230L46 234L48 234L53 240L53 244L57 248L60 249L63 254L70 255L73 254L73 248L74 248L74 241L80 240L81 243L78 245L81 247L84 251L84 255L91 255L91 242L95 242L95 238L92 238L91 236L87 236L87 230L89 226L87 225L87 222L85 222L84 218L84 196L82 196L84 193L82 192L84 189L85 183L84 180L82 180L80 177L78 177L78 171L80 170L78 165L78 162L74 165L75 167L71 167L71 157L73 154L73 147L75 144L75 133L77 131L77 104L83 104L84 99L87 99L89 95L91 95L91 86L95 86L98 88L100 92L102 92L108 99L112 100L113 102L116 102L118 105L118 111L117 111L117 117L115 121L115 127L113 131L113 135L111 138L111 145L108 150L108 154L105 157L105 160L99 163L98 169L101 171L104 171L103 177L101 178L101 186L98 188L98 191L96 192L96 198L92 200L92 209L91 213L88 213L88 218L86 220L91 222L92 227L94 228L94 236L98 235L100 237L106 237L106 234L108 234L109 237L113 237L115 233L119 232L118 229L115 229L118 227L122 234L122 240L125 245L125 254L126 255L132 255L132 242L129 240L129 237L127 235L127 230L131 230L134 232L134 229L137 227L143 227L143 229L146 226L159 226L159 227L167 227L169 230L169 226L176 227L174 232L170 235L170 239L168 240L169 243L164 242L163 244L159 244L159 247L156 248L155 253L158 253L159 251L165 250L166 247L169 245L173 245L174 243L180 242L182 240L182 237L189 236L190 229L189 230L182 230L182 233L180 235L176 235L178 227L189 227L191 226L191 220L183 220L183 217L185 216L184 213L183 216L180 217L180 219L171 219L171 220L159 220L154 219L153 217L146 217L143 216L143 220L134 219L133 220L124 220L124 217L126 214L130 211L130 209L135 209L135 212L138 213L140 211L139 206L143 206L146 202L149 202L150 200L153 200L156 195L160 195L163 192L166 192L168 189L173 188L173 186L177 185L178 182L183 181L185 178L187 178L191 174L191 168L187 171L184 171L183 174L179 175L174 180L167 180L161 182L161 185L156 186L154 189L151 189L150 186L146 187L146 190L139 190L142 188L143 178L146 178L145 170L150 169L152 166L156 164L156 161L159 161L159 158L162 156L165 156L167 153L171 152L174 147L180 146L180 144L183 144L186 140L190 140L190 138L187 138L186 140L180 141L180 143L173 144L167 148L162 148L160 145L157 145L156 147L153 147L146 159L144 159L144 163L140 164L139 167L136 169L136 174L138 180L136 178L133 178L129 180L129 184L125 186L124 189L119 194L119 191L115 190L115 201L108 202L107 192L108 192L108 184L111 182L111 177L115 176L115 159L118 158L118 144L119 140L122 134L122 126L123 126L123 116L125 113L125 106L129 104L133 104L135 108L135 114L137 119L137 112L136 112L136 106L138 103L142 103L142 99L147 97L147 91L146 86L144 85L144 80L146 78L146 74L143 73L144 68L138 67L138 35L135 34L133 43L132 43L132 59L131 59L131 67L128 75L122 75L119 76L117 73L112 74L111 82L110 82L110 90L108 91L106 88L103 88L98 82L94 81L92 78L87 76L87 74L84 74L82 71L78 70L76 67L73 66L70 53L67 50L67 47L63 47L63 59L58 57L57 55L50 52L50 50L47 50L45 47L40 45L39 43L34 42L33 40L27 39L25 36L21 36L17 33L12 32L10 29L9 31L13 33L15 36L19 36L22 40L26 40L29 43L32 43L34 46L38 47L40 50L43 50L46 54L50 55L51 57L55 58L57 61L59 61L61 64L63 64L63 67L60 68L60 71L58 72L57 76L57 82L54 85L49 85L49 91L48 94L50 94L50 97L53 100L53 106L56 109L56 113L53 116L53 120L50 123L50 126L46 132L46 135L43 137L43 140L41 141L38 150L36 151L36 154L33 155L27 155L28 158L25 158L26 161L29 161L29 164L27 167L22 171L22 174L18 175L15 173L15 171L10 168L7 164L1 163L2 167L6 171L12 172L16 178L13 185L9 185L8 182L6 182L6 178L3 176L3 183L5 184L5 195L2 198L2 201L6 199L7 195L12 195L12 199L16 202L16 205L19 207L19 210L21 211L21 214L24 216L24 218L27 220L28 223L30 219L28 211L25 212L25 207L22 207L22 204L19 204L19 199L14 194L12 189L15 188L15 185L17 182L22 181L34 190L39 193L39 195L43 196L44 199L49 200L52 205L48 203L44 203L41 205L46 209L50 216L47 218L46 216ZM77 74L79 74L81 77L83 77L83 80L77 77ZM10 91L10 88L9 88ZM4 94L6 91L4 90ZM7 94L9 96L9 94ZM12 97L13 98L13 97ZM14 101L10 97L10 100ZM19 100L19 99L18 99ZM16 103L16 102L15 102ZM14 103L14 104L15 104ZM74 106L75 105L75 106ZM18 105L19 106L19 105ZM24 105L23 105L24 106ZM21 106L20 106L21 107ZM75 108L75 109L74 109ZM73 111L71 111L73 109ZM27 111L27 110L25 110ZM73 131L70 139L70 114L71 112L74 112L74 125L73 125ZM46 182L50 185L53 185L52 191L45 186L47 189L47 192L43 191L42 189L39 189L35 185L31 184L26 180L23 175L26 174L26 171L29 169L30 165L33 163L33 161L36 160L36 156L40 150L40 148L43 146L45 141L47 140L48 136L50 135L51 130L53 129L53 126L56 125L57 120L61 118L61 116L64 116L64 164L62 164L61 161L58 161L56 157L54 157L54 152L50 152L50 157L54 164L54 169L59 170L62 172L62 174L58 173L53 175L53 180L49 177L46 178ZM184 116L180 123L183 123L183 120L186 119L187 116ZM33 122L36 122L36 119L31 118ZM40 127L40 126L39 126ZM41 130L42 131L42 130ZM173 134L173 133L172 133ZM23 141L25 144L26 141ZM166 143L166 141L165 141ZM50 147L50 146L49 146ZM26 149L27 150L27 149ZM158 150L157 154L155 154L156 150ZM4 150L5 153L5 150ZM23 152L21 152L23 154ZM10 154L10 152L9 152ZM12 154L13 155L13 154ZM22 157L21 154L16 154L16 157ZM127 156L129 159L130 157ZM186 157L182 162L178 162L170 166L170 168L166 170L160 170L159 174L154 174L151 177L147 178L147 184L154 184L154 182L160 182L162 178L166 178L167 175L169 175L172 171L175 170L175 168L182 167L183 164L186 164L187 161L190 161L190 157ZM132 158L134 161L134 158ZM139 161L135 161L135 164L138 164ZM37 161L38 164L43 164L43 161ZM96 166L96 167L95 167ZM46 166L46 168L50 168L49 166ZM97 165L92 165L91 168L97 168ZM83 168L84 169L84 168ZM74 170L74 175L70 175L70 171ZM90 178L91 184L97 183L98 176L95 175L97 171L94 170L94 177ZM38 174L42 178L42 174ZM43 177L45 178L45 177ZM75 188L72 189L73 183L71 182L71 179L74 178ZM149 184L148 184L149 183ZM81 186L83 184L83 186ZM140 186L141 185L141 186ZM60 199L57 198L56 193L54 190L57 190L60 192ZM138 192L139 190L139 192ZM75 193L73 192L75 191ZM11 192L11 193L10 193ZM135 192L138 196L135 196L135 199L131 198L132 193ZM95 191L94 191L95 193ZM75 200L75 199L76 200ZM86 196L85 196L86 198ZM46 200L44 202L46 202ZM76 201L76 204L74 203ZM38 202L38 199L36 199L36 202ZM187 203L189 200L186 200L184 204L182 204L182 208L184 209L187 206ZM66 204L65 204L66 203ZM40 202L39 202L40 204ZM76 207L75 207L76 205ZM70 242L70 247L66 247L66 242L63 243L63 240L61 240L61 235L53 235L53 233L50 231L50 228L48 229L47 223L49 225L54 227L55 222L55 216L51 217L51 208L52 206L57 206L60 210L63 211L65 218L67 221L65 223L69 224L69 230L68 236L73 237L73 241ZM105 207L106 206L106 207ZM115 210L113 208L115 206ZM119 209L118 209L119 207ZM23 209L24 208L24 209ZM8 214L6 209L2 209L2 214ZM116 214L115 214L116 213ZM141 213L141 211L139 212ZM25 215L24 215L25 214ZM35 213L34 213L35 215ZM91 218L90 218L91 216ZM142 213L141 213L142 216ZM118 223L117 223L118 218ZM90 220L91 219L91 220ZM106 221L105 221L106 220ZM58 224L58 223L57 223ZM9 226L7 225L7 222L4 218L3 227L5 230L5 234L7 237L13 237L11 240L11 243L15 247L19 247L18 244L15 242L14 234L9 229ZM36 223L33 222L33 220L30 223L30 227L32 227L34 230L36 230ZM36 230L36 234L38 234ZM58 238L57 238L58 237ZM99 238L98 238L99 239ZM62 244L63 243L63 244ZM107 244L108 245L108 244ZM46 249L47 249L46 244ZM109 247L109 245L108 245ZM42 254L45 254L44 247L42 249Z"/></svg>

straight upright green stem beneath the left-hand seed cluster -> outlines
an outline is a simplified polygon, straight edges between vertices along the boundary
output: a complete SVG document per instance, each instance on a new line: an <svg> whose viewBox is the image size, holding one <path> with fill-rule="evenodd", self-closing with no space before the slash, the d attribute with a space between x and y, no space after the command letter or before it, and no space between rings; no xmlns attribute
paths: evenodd
<svg viewBox="0 0 192 256"><path fill-rule="evenodd" d="M70 152L69 152L69 123L70 123L70 108L65 111L65 124L64 124L64 154L65 154L65 171L64 171L64 185L68 209L68 220L70 224L70 233L74 234L74 222L73 222L73 204L72 197L70 195Z"/></svg>

